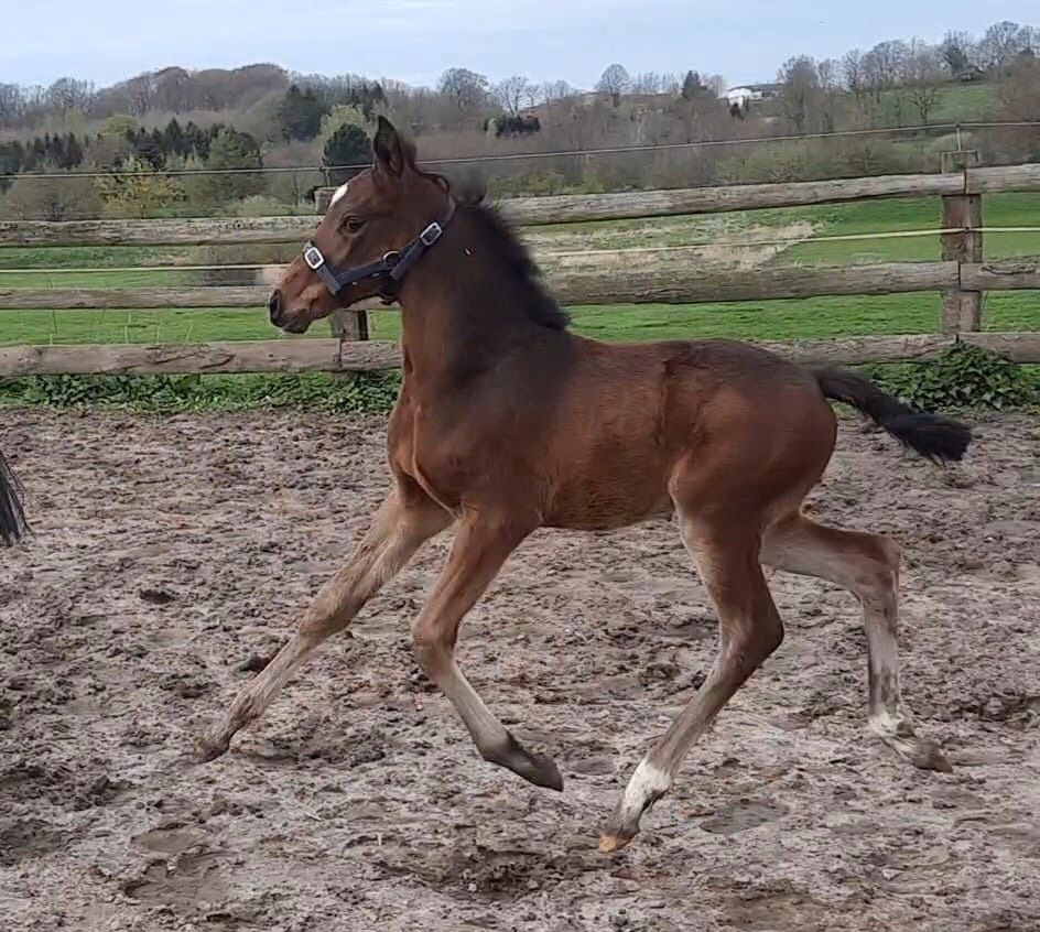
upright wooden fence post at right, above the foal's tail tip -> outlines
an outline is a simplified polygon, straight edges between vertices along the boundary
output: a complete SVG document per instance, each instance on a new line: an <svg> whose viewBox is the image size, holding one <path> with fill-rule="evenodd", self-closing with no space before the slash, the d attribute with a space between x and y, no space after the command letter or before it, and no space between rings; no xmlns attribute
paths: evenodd
<svg viewBox="0 0 1040 932"><path fill-rule="evenodd" d="M983 261L983 196L967 193L967 170L978 165L974 149L943 152L942 170L964 173L964 193L942 195L943 229L958 228L942 235L942 258L964 264ZM942 293L942 332L944 334L973 333L982 329L983 293L961 288Z"/></svg>

